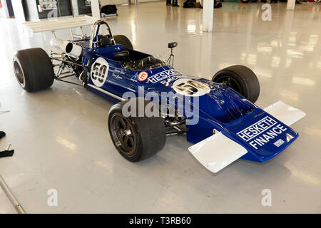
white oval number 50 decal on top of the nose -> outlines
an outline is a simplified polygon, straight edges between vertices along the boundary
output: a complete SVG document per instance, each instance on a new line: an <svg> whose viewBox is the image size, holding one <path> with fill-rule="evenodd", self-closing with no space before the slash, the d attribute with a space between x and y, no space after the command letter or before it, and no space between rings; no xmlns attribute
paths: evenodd
<svg viewBox="0 0 321 228"><path fill-rule="evenodd" d="M191 97L200 97L210 92L210 87L199 81L188 78L180 78L173 83L173 89L176 93L188 95Z"/></svg>

